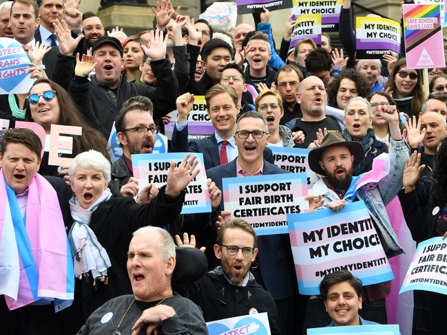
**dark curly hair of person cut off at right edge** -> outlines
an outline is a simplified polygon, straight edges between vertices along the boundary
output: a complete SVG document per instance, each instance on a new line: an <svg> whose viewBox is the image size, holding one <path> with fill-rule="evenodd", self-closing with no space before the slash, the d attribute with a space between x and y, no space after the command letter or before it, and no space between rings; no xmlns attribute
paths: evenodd
<svg viewBox="0 0 447 335"><path fill-rule="evenodd" d="M444 206L447 202L447 138L442 140L435 153L432 179L435 182L433 204Z"/></svg>

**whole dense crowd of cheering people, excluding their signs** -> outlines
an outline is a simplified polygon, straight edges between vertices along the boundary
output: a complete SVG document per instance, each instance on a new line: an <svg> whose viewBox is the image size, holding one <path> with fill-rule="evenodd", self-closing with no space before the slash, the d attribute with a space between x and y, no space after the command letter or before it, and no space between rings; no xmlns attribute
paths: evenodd
<svg viewBox="0 0 447 335"><path fill-rule="evenodd" d="M209 321L262 312L275 335L389 323L397 279L364 285L341 270L322 276L320 295L300 294L289 235L258 237L230 219L222 179L288 173L272 150L310 149L309 211L338 211L353 177L386 153L388 174L351 199L364 202L384 255L446 237L447 68L428 69L426 96L404 51L356 58L351 0L340 49L325 32L320 46L289 48L292 16L276 27L277 48L280 12L266 8L217 32L162 0L129 36L106 32L81 0L38 2L0 4L0 37L23 46L34 79L28 93L0 95L1 334L208 334ZM198 96L214 133L191 139ZM52 125L82 127L72 153L59 153L71 164L52 164ZM164 186L139 186L132 155L152 154L168 125L167 152L188 154L168 164ZM211 211L183 214L194 153ZM386 212L393 201L406 241ZM416 290L410 303L413 334L446 334L446 295Z"/></svg>

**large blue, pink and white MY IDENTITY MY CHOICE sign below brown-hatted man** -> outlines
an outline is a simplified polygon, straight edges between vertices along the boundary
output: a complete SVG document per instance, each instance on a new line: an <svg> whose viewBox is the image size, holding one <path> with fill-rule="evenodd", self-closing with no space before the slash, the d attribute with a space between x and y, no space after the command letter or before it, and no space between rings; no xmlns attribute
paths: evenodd
<svg viewBox="0 0 447 335"><path fill-rule="evenodd" d="M349 270L364 285L394 278L363 201L311 213L289 214L290 242L301 294L319 294L326 274Z"/></svg>

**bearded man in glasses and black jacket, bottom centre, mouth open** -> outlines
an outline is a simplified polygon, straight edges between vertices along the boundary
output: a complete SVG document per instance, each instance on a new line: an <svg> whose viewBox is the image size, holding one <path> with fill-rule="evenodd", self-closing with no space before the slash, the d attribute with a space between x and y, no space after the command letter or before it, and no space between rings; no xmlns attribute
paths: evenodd
<svg viewBox="0 0 447 335"><path fill-rule="evenodd" d="M196 246L194 235L191 235L191 241L186 233L183 241L178 235L176 240L179 247ZM194 283L181 285L176 292L199 305L205 322L267 312L271 334L280 334L275 301L250 272L258 255L257 247L256 233L247 221L225 221L214 244L214 254L220 259L221 266L216 266Z"/></svg>

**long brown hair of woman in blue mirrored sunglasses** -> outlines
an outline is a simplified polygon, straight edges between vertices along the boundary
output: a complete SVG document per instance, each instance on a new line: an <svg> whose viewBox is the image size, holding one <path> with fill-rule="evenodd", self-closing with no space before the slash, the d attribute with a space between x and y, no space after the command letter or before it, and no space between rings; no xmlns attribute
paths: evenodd
<svg viewBox="0 0 447 335"><path fill-rule="evenodd" d="M70 94L65 91L63 87L54 83L54 81L44 78L34 81L32 87L41 83L50 85L51 89L56 91L59 108L61 110L57 124L82 127L82 136L73 136L73 156L78 155L83 151L94 149L101 152L105 157L109 157L106 149L107 140L105 140L100 131L89 126L89 122L87 122L87 120L85 120L83 115L79 112ZM26 102L25 120L33 121L28 101Z"/></svg>

